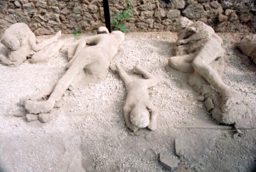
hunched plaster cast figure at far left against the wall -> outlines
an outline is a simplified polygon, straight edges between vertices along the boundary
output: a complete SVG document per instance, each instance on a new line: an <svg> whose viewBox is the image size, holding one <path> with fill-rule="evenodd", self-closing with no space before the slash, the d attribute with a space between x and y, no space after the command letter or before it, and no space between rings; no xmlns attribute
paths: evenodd
<svg viewBox="0 0 256 172"><path fill-rule="evenodd" d="M12 24L4 31L0 41L5 47L0 50L0 63L4 65L18 66L28 56L32 55L30 62L48 61L57 55L63 45L58 41L61 32L50 39L36 44L36 35L25 23Z"/></svg>

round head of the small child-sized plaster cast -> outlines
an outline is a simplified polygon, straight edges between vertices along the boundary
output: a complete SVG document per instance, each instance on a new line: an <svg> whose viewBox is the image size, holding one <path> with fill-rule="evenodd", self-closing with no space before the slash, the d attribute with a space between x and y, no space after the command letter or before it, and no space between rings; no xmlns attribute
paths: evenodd
<svg viewBox="0 0 256 172"><path fill-rule="evenodd" d="M130 113L130 119L133 125L139 128L145 128L149 125L149 112L143 106L136 106Z"/></svg>

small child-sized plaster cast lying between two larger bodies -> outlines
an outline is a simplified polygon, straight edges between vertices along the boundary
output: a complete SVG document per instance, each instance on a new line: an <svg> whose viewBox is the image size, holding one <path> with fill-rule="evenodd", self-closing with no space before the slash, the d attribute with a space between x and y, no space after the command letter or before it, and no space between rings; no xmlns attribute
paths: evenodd
<svg viewBox="0 0 256 172"><path fill-rule="evenodd" d="M150 102L147 89L156 85L157 79L140 65L134 67L134 72L142 74L146 80L133 81L120 65L117 64L116 68L127 90L124 105L124 119L127 127L134 132L145 127L153 131L156 130L158 111L156 106Z"/></svg>

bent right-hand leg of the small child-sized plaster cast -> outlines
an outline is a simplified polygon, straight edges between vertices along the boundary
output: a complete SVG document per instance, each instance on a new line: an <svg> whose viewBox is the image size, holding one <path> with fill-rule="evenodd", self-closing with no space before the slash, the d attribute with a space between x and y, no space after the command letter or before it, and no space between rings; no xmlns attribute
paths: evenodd
<svg viewBox="0 0 256 172"><path fill-rule="evenodd" d="M143 80L143 82L148 86L148 88L157 84L158 81L156 77L148 72L146 69L144 69L140 64L134 66L133 70L135 73L142 74L144 78L147 79Z"/></svg>

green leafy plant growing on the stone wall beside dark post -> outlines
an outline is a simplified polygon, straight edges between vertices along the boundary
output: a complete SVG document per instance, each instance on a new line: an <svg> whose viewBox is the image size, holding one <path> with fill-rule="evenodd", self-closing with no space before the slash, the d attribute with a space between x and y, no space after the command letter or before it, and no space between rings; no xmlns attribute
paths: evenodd
<svg viewBox="0 0 256 172"><path fill-rule="evenodd" d="M127 32L127 30L124 28L124 22L127 20L130 20L130 17L132 16L132 4L130 1L126 1L126 8L124 9L124 11L122 13L116 13L116 20L112 19L111 20L111 26L113 30L120 30L124 33Z"/></svg>

